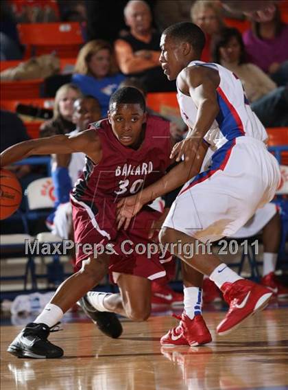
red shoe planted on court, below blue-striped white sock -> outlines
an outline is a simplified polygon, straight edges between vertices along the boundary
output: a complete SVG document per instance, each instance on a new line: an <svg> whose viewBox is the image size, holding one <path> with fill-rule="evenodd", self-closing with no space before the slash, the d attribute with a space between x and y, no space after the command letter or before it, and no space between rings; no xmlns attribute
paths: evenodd
<svg viewBox="0 0 288 390"><path fill-rule="evenodd" d="M202 315L193 319L183 312L181 317L173 314L173 317L180 319L176 328L170 329L167 334L161 337L161 345L202 345L212 341L211 334L206 326Z"/></svg>

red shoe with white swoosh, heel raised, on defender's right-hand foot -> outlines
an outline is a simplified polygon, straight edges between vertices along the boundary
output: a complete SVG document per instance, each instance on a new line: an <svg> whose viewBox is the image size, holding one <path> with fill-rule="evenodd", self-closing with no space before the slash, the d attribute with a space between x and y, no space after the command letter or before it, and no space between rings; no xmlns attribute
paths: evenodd
<svg viewBox="0 0 288 390"><path fill-rule="evenodd" d="M218 334L226 334L237 328L244 319L263 310L272 297L270 290L245 279L234 283L226 282L221 291L230 308L224 320L217 326Z"/></svg>

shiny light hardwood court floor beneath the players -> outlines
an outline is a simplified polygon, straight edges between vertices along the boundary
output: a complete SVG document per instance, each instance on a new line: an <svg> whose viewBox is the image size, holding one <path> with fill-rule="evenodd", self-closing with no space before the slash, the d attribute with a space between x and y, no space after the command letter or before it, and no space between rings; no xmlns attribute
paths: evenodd
<svg viewBox="0 0 288 390"><path fill-rule="evenodd" d="M120 339L91 322L64 323L50 341L64 348L53 360L17 359L5 352L19 326L1 327L3 390L288 389L288 308L267 309L239 330L217 337L223 312L204 317L213 334L206 347L160 347L176 320L123 321Z"/></svg>

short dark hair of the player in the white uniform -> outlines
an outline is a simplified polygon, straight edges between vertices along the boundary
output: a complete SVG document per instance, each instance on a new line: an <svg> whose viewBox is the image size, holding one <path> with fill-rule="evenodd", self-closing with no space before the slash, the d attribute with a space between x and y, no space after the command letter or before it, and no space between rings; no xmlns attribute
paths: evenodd
<svg viewBox="0 0 288 390"><path fill-rule="evenodd" d="M163 34L171 36L176 41L189 43L198 54L202 53L206 42L204 32L191 22L170 25L163 31Z"/></svg>

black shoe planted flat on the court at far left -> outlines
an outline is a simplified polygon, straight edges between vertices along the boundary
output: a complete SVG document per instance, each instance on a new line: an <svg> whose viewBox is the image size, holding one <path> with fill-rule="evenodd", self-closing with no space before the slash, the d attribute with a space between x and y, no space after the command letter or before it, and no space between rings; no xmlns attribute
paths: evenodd
<svg viewBox="0 0 288 390"><path fill-rule="evenodd" d="M7 352L18 358L60 358L63 349L47 340L50 332L59 330L53 330L56 325L49 328L45 323L28 323L9 345Z"/></svg>

